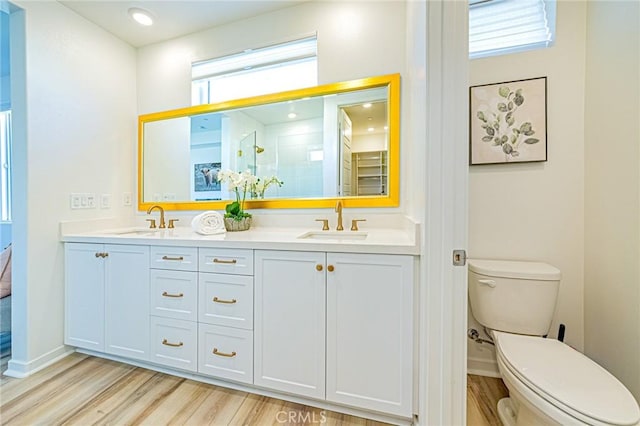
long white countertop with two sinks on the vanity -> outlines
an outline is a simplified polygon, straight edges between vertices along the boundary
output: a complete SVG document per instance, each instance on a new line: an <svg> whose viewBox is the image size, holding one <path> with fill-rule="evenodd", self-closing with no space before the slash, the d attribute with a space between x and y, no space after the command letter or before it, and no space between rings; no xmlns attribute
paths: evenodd
<svg viewBox="0 0 640 426"><path fill-rule="evenodd" d="M329 251L418 255L418 224L405 228L325 231L310 228L252 227L248 231L200 235L191 228L151 230L141 227L63 232L63 242L270 250ZM319 239L300 238L313 231ZM317 232L316 232L317 231ZM320 234L320 235L318 235ZM358 235L358 239L353 238Z"/></svg>

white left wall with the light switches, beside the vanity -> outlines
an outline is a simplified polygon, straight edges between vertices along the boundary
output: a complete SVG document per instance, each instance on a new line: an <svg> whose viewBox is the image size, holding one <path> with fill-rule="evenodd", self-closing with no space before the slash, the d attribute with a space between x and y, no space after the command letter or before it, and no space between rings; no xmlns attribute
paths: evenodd
<svg viewBox="0 0 640 426"><path fill-rule="evenodd" d="M57 2L16 4L24 12L15 12L15 22L12 14L11 23L12 43L18 38L13 46L21 47L12 50L12 66L22 69L12 70L15 298L9 369L28 371L63 350L59 222L133 213L117 200L135 182L136 62L131 46ZM112 194L113 207L72 211L71 192Z"/></svg>

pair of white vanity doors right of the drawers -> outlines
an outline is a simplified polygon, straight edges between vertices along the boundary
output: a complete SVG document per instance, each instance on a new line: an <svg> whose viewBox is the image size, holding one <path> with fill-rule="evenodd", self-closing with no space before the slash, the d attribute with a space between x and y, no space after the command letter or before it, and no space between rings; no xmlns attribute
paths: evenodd
<svg viewBox="0 0 640 426"><path fill-rule="evenodd" d="M255 258L254 383L410 417L413 257L258 250Z"/></svg>

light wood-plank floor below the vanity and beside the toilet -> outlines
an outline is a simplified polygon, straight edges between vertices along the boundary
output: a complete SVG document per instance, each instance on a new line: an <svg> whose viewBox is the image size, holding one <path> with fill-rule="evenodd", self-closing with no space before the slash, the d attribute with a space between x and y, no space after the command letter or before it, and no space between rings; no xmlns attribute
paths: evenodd
<svg viewBox="0 0 640 426"><path fill-rule="evenodd" d="M500 425L495 416L495 402L506 393L501 385L498 379L469 376L468 425ZM0 424L373 426L383 423L73 354L25 379L3 376Z"/></svg>

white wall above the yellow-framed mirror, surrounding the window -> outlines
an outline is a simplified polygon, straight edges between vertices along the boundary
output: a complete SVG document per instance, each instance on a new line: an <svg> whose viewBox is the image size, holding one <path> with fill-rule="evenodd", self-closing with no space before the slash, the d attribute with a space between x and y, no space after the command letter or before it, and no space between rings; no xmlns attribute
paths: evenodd
<svg viewBox="0 0 640 426"><path fill-rule="evenodd" d="M316 32L319 84L403 71L404 2L309 2L139 49L138 113L190 106L192 62Z"/></svg>

